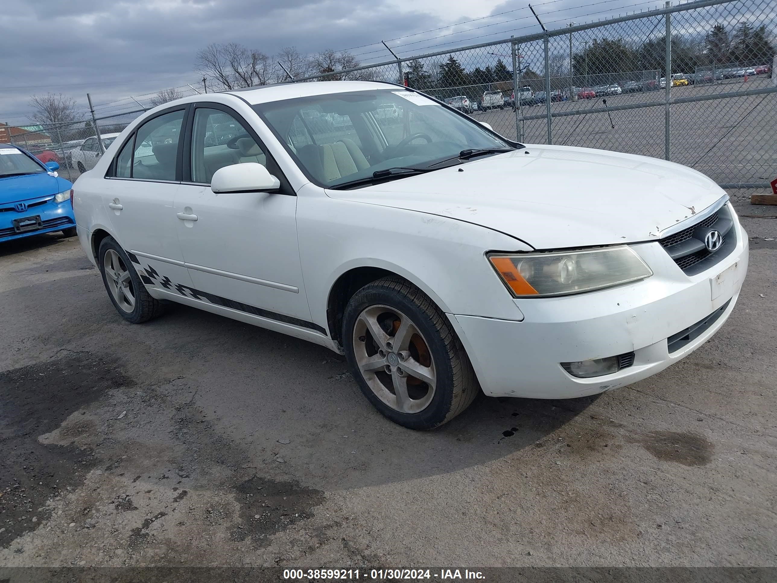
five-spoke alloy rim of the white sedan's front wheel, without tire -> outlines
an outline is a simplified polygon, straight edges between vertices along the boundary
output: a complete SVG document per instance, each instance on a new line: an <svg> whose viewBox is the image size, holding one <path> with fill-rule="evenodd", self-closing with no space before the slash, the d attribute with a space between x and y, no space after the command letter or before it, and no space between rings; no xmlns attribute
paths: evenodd
<svg viewBox="0 0 777 583"><path fill-rule="evenodd" d="M354 356L364 381L400 413L419 413L434 398L437 374L429 344L398 309L372 305L354 325Z"/></svg>

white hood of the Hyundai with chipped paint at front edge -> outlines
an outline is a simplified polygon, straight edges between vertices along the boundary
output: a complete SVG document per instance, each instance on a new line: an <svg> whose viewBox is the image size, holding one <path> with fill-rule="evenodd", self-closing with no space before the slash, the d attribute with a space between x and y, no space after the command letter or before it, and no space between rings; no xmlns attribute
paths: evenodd
<svg viewBox="0 0 777 583"><path fill-rule="evenodd" d="M656 239L726 195L707 176L673 162L548 145L327 194L456 218L535 249Z"/></svg>

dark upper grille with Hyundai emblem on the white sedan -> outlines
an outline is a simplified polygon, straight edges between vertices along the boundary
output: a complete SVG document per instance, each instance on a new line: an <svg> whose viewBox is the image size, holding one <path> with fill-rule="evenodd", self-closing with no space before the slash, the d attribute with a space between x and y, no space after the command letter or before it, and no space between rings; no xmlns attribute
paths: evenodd
<svg viewBox="0 0 777 583"><path fill-rule="evenodd" d="M659 239L659 243L685 274L695 275L723 260L737 246L733 222L733 215L724 205L690 227ZM722 243L718 250L711 252L707 250L704 239L713 230L720 232Z"/></svg>

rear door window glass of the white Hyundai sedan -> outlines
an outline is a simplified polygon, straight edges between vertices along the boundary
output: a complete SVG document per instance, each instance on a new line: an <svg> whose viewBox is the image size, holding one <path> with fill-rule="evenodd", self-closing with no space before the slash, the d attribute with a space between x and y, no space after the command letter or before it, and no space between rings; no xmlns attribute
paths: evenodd
<svg viewBox="0 0 777 583"><path fill-rule="evenodd" d="M138 127L134 139L132 178L176 180L183 113L183 110L171 111Z"/></svg>

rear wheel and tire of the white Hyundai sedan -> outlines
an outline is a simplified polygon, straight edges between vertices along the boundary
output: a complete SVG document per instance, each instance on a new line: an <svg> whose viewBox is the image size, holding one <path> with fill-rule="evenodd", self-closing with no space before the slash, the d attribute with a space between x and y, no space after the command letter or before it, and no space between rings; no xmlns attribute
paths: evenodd
<svg viewBox="0 0 777 583"><path fill-rule="evenodd" d="M127 253L113 237L100 243L97 265L113 307L127 322L139 324L162 314L162 304L146 291Z"/></svg>

